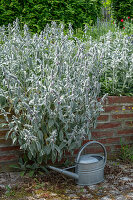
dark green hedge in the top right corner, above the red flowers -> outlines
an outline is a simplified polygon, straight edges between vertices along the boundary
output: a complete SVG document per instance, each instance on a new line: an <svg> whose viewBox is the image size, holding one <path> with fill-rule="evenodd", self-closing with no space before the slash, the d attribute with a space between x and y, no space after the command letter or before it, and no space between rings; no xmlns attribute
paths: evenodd
<svg viewBox="0 0 133 200"><path fill-rule="evenodd" d="M112 0L112 15L117 23L121 19L133 17L133 0Z"/></svg>

